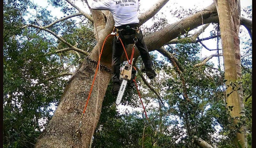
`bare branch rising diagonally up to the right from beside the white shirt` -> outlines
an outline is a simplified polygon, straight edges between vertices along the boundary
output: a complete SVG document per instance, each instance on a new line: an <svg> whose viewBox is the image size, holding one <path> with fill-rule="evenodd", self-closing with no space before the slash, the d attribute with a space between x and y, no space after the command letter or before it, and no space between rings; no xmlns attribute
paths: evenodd
<svg viewBox="0 0 256 148"><path fill-rule="evenodd" d="M150 9L148 9L146 12L141 14L138 19L140 20L140 25L144 24L147 20L152 18L154 15L156 15L157 12L159 12L160 9L162 9L163 6L168 2L169 0L159 0L156 2Z"/></svg>

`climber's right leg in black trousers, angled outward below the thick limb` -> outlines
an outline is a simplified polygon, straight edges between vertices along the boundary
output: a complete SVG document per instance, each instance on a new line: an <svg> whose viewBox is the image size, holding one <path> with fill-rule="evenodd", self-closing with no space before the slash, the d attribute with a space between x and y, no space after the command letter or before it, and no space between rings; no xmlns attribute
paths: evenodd
<svg viewBox="0 0 256 148"><path fill-rule="evenodd" d="M156 72L152 69L152 62L150 60L150 55L148 53L147 46L143 39L141 30L139 31L137 38L138 38L138 41L135 45L137 46L137 48L140 52L142 61L145 65L146 74L147 74L148 78L150 78L150 79L155 78Z"/></svg>

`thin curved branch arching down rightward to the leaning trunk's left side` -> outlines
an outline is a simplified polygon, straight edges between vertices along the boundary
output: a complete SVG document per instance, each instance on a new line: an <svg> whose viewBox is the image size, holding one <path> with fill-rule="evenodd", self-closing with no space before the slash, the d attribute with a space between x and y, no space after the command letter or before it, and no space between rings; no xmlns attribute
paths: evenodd
<svg viewBox="0 0 256 148"><path fill-rule="evenodd" d="M89 55L87 52L83 51L82 49L79 49L73 45L71 45L70 43L68 43L65 39L59 37L56 33L50 31L49 29L45 29L44 27L40 27L40 26L35 26L35 25L25 25L23 27L21 27L22 29L23 28L26 28L26 27L34 27L34 28L37 28L37 29L41 29L41 30L44 30L46 32L49 32L50 34L52 34L53 36L55 36L56 38L59 39L59 41L62 41L64 44L68 45L70 48L72 48L73 50L77 51L77 52L80 52L84 55Z"/></svg>

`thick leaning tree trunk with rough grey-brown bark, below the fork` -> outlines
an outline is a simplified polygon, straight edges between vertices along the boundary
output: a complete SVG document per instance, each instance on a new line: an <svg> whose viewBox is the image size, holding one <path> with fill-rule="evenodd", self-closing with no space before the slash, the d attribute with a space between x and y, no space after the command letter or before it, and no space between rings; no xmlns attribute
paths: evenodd
<svg viewBox="0 0 256 148"><path fill-rule="evenodd" d="M111 78L110 69L100 67L100 86L97 114L97 80L85 115L82 118L82 126L78 134L76 130L81 119L81 113L85 107L88 93L91 88L92 79L97 67L95 61L88 59L77 68L68 86L66 87L53 118L43 133L38 138L35 148L88 148L91 133L94 127L94 116L97 122L100 118L101 105Z"/></svg>

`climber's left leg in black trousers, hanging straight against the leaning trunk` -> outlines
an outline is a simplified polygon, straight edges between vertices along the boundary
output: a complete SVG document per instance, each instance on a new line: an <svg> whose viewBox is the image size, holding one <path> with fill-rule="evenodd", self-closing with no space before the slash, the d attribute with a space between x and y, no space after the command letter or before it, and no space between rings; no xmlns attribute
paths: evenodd
<svg viewBox="0 0 256 148"><path fill-rule="evenodd" d="M121 55L124 52L124 49L120 43L120 41L116 40L116 37L114 37L113 42L112 42L112 48L113 48L113 53L112 53L112 82L113 82L113 88L112 88L112 94L117 95L118 90L120 89L120 81L119 81L119 76L120 76L120 60L121 60Z"/></svg>

